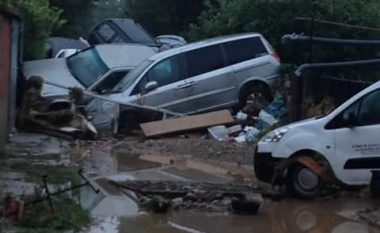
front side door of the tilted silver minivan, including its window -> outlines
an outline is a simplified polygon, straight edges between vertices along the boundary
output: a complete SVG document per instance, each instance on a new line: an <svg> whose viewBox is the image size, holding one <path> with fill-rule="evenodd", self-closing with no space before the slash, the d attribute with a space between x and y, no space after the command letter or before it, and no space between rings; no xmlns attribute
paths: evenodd
<svg viewBox="0 0 380 233"><path fill-rule="evenodd" d="M151 67L134 88L137 103L156 106L174 112L186 112L187 89L184 80L184 64L180 55L158 62ZM157 82L157 87L149 92L144 87L149 82Z"/></svg>

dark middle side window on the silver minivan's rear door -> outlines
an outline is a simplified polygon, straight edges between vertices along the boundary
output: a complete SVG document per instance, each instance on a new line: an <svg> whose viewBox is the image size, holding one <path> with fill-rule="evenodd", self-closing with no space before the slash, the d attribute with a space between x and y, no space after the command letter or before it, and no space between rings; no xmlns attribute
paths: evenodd
<svg viewBox="0 0 380 233"><path fill-rule="evenodd" d="M184 53L188 77L208 73L226 66L220 45L213 45Z"/></svg>

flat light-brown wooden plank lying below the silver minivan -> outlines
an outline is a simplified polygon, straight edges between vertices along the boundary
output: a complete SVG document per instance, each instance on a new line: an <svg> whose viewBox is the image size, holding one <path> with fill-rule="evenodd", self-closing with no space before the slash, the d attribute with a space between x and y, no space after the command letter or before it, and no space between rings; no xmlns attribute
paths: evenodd
<svg viewBox="0 0 380 233"><path fill-rule="evenodd" d="M175 119L154 121L141 124L145 136L159 136L170 133L186 132L194 129L202 129L215 125L223 125L234 122L228 110L210 112L205 114L185 116Z"/></svg>

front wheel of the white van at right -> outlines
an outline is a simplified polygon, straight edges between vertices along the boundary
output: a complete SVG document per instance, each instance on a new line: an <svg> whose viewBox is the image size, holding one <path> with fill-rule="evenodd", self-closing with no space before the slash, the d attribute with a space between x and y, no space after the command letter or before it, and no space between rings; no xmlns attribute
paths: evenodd
<svg viewBox="0 0 380 233"><path fill-rule="evenodd" d="M298 198L316 197L324 186L320 176L301 164L288 168L286 182L290 194Z"/></svg>

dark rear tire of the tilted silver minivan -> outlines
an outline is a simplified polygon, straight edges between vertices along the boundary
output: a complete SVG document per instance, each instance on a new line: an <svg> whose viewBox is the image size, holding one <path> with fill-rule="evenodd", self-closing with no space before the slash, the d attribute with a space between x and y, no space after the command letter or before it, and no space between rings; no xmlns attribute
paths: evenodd
<svg viewBox="0 0 380 233"><path fill-rule="evenodd" d="M262 95L268 103L272 101L272 94L270 88L267 84L262 82L254 82L244 86L240 90L239 97L239 105L240 108L244 107L247 104L249 96L254 95Z"/></svg>

